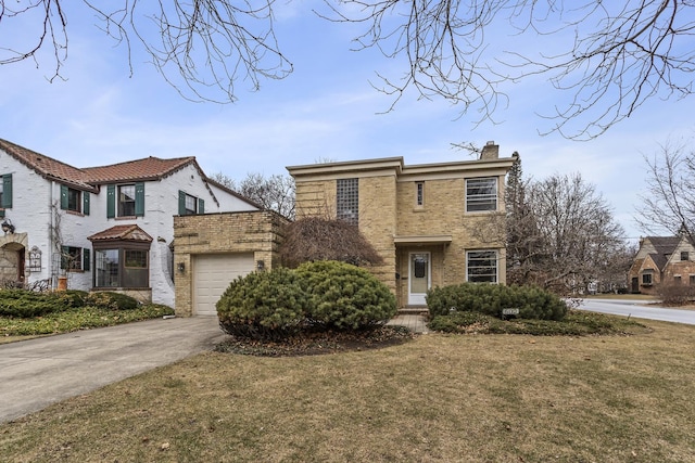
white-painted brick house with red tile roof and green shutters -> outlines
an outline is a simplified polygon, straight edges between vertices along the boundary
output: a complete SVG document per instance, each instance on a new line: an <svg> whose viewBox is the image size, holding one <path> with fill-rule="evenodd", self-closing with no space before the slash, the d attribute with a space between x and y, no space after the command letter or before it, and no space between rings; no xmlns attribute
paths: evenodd
<svg viewBox="0 0 695 463"><path fill-rule="evenodd" d="M174 306L177 215L257 210L194 157L77 168L0 140L0 279Z"/></svg>

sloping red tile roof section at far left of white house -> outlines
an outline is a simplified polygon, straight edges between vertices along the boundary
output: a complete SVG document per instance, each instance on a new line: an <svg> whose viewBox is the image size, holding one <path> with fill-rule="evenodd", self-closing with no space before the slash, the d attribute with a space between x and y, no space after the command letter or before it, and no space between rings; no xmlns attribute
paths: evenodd
<svg viewBox="0 0 695 463"><path fill-rule="evenodd" d="M43 178L56 180L80 190L97 191L93 185L86 181L83 169L61 163L52 157L45 156L2 139L0 139L0 149Z"/></svg>

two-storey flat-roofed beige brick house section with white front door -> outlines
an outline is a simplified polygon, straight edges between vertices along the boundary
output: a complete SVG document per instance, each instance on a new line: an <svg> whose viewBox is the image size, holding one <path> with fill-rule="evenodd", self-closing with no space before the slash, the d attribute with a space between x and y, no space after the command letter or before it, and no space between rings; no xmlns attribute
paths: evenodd
<svg viewBox="0 0 695 463"><path fill-rule="evenodd" d="M374 273L399 307L432 286L505 283L505 175L516 157L489 142L477 160L406 166L402 157L288 167L296 217L358 226L383 257Z"/></svg>

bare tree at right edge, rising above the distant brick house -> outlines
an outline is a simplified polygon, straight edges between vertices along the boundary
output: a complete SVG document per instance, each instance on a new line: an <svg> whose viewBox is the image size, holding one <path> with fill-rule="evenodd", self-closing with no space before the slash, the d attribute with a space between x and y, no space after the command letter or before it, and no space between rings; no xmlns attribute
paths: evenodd
<svg viewBox="0 0 695 463"><path fill-rule="evenodd" d="M695 153L682 142L667 142L645 162L647 193L641 195L635 221L648 233L666 230L695 243Z"/></svg>

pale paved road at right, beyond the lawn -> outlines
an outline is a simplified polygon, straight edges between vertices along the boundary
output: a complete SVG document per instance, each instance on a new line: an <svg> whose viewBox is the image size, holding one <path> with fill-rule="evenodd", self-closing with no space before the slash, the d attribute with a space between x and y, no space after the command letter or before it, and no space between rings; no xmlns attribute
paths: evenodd
<svg viewBox="0 0 695 463"><path fill-rule="evenodd" d="M668 309L640 300L584 299L580 309L639 319L695 324L695 310Z"/></svg>

